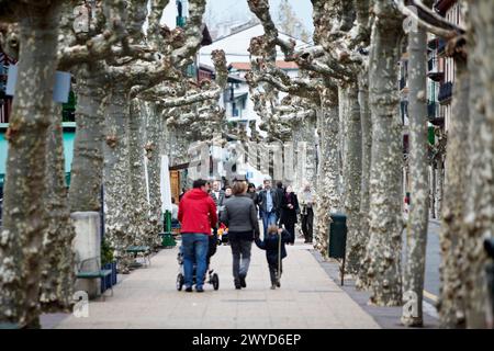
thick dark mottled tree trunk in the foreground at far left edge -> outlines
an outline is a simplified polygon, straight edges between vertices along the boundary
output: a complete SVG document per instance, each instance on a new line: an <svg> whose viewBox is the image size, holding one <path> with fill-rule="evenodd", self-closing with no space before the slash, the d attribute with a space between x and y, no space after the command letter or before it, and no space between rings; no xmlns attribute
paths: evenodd
<svg viewBox="0 0 494 351"><path fill-rule="evenodd" d="M0 322L38 327L40 261L47 227L46 135L50 122L59 5L16 4L20 60L4 183L0 237Z"/></svg>

